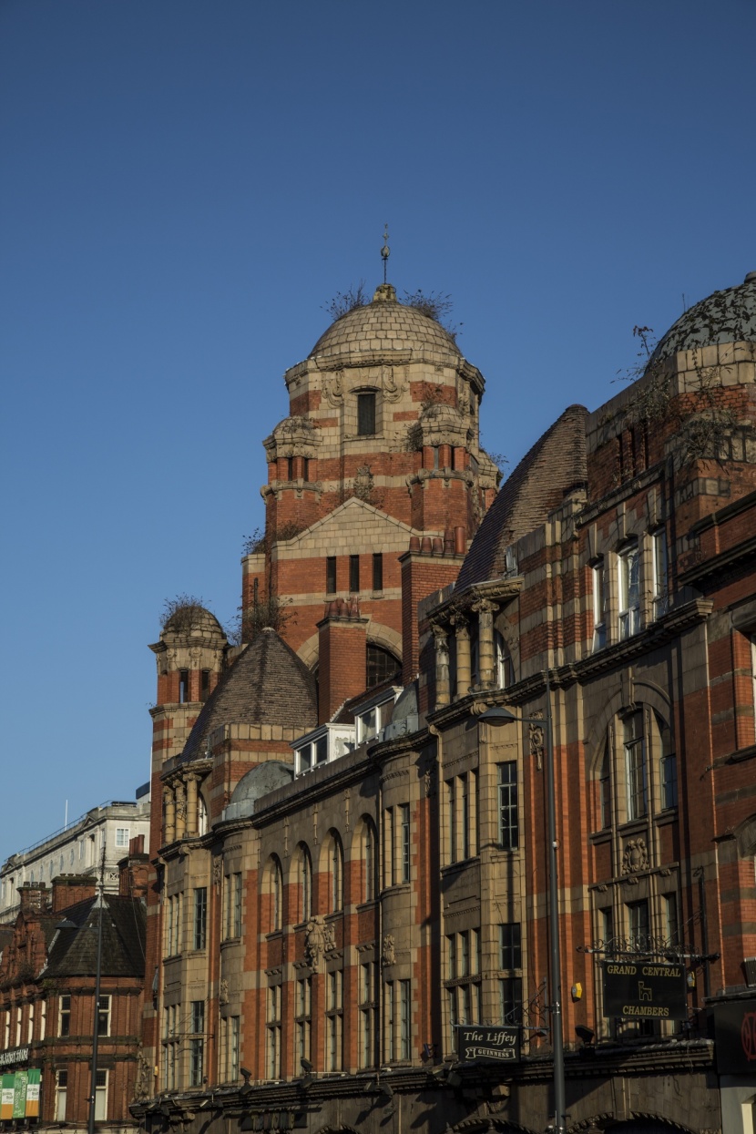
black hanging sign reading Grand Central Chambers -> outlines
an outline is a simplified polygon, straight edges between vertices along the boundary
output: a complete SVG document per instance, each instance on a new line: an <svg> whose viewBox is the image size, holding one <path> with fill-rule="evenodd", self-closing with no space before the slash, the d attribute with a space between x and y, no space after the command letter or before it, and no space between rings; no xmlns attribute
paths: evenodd
<svg viewBox="0 0 756 1134"><path fill-rule="evenodd" d="M654 960L604 960L604 1016L687 1019L685 966Z"/></svg>

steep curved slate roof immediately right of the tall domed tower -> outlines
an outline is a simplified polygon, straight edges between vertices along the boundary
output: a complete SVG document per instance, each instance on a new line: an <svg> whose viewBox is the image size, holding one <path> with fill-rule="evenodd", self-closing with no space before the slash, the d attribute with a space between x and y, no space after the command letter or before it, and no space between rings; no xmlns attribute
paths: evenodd
<svg viewBox="0 0 756 1134"><path fill-rule="evenodd" d="M462 564L456 590L499 578L510 543L543 524L564 493L587 480L585 406L569 406L501 485Z"/></svg>

